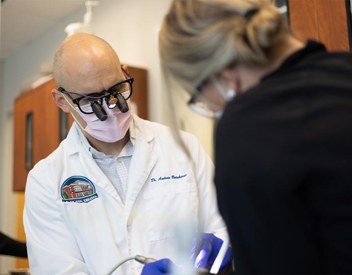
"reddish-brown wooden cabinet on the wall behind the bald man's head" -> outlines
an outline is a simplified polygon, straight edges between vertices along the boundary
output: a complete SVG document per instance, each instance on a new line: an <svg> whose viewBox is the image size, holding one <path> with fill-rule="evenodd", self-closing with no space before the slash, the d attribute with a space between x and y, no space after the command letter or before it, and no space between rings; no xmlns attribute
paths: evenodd
<svg viewBox="0 0 352 275"><path fill-rule="evenodd" d="M134 78L131 101L136 103L139 116L147 119L147 71L129 67L129 73ZM60 129L60 109L51 96L53 88L56 84L51 79L15 99L14 191L24 191L28 172L59 146L63 129ZM73 118L69 115L67 129L72 123Z"/></svg>

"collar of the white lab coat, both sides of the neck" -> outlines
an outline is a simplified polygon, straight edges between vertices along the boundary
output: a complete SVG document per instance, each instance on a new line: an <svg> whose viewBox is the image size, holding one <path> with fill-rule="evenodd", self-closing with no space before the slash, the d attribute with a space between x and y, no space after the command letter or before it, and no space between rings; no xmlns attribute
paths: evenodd
<svg viewBox="0 0 352 275"><path fill-rule="evenodd" d="M73 122L74 124L76 124L76 122ZM140 132L142 133L143 139L146 142L150 142L153 140L154 138L154 134L149 130L149 128L147 127L146 123L144 122L144 120L140 117L138 117L137 115L133 114L133 129L131 129L130 135L131 135L131 140L133 139L133 141L135 142L135 140L137 139L137 133L136 132ZM82 142L79 138L79 133L77 131L80 131L78 129L77 125L72 125L70 131L68 132L67 138L66 138L66 142L67 144L67 153L68 155L73 155L79 152L79 146L77 146L80 142ZM138 137L141 138L141 137ZM132 142L132 144L134 143ZM134 144L133 144L134 146Z"/></svg>

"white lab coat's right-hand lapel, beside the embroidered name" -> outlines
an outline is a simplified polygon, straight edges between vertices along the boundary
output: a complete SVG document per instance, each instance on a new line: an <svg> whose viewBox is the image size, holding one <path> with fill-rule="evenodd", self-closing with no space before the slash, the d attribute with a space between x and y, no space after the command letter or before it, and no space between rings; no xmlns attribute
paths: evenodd
<svg viewBox="0 0 352 275"><path fill-rule="evenodd" d="M136 142L128 173L128 190L125 203L125 213L129 215L143 185L158 159L149 144L154 135L145 125L144 121L134 116Z"/></svg>

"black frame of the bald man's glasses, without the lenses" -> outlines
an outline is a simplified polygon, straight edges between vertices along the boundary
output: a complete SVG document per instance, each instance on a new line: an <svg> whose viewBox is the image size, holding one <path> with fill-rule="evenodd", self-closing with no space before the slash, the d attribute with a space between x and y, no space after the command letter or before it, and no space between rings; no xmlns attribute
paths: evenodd
<svg viewBox="0 0 352 275"><path fill-rule="evenodd" d="M124 81L121 81L121 82L119 82L119 83L114 84L113 86L111 86L109 89L106 90L106 93L105 93L105 94L103 94L103 93L92 93L92 94L89 94L89 95L82 95L82 94L79 94L79 93L75 93L75 92L73 92L73 91L66 91L63 87L59 87L58 90L61 91L61 93L67 95L67 96L72 100L72 102L77 105L78 109L79 109L82 113L84 113L84 114L92 114L92 113L94 113L93 111L92 111L92 112L85 112L85 111L83 111L83 110L80 108L80 106L79 106L79 101L80 101L80 100L82 100L82 99L84 99L84 98L95 99L95 100L102 106L102 105L103 105L103 100L104 100L104 98L109 98L109 97L111 97L111 96L113 96L113 97L116 98L116 96L117 96L118 94L121 94L121 93L119 93L119 92L117 92L117 93L112 93L111 91L112 91L112 89L114 89L116 86L121 85L121 84L123 84L123 83L128 83L128 84L129 84L129 87L130 87L129 96L128 96L125 100L128 100L128 99L132 96L132 83L133 83L134 79L133 79L133 77L130 76L129 73L127 73L127 72L122 68L122 66L121 66L121 69L122 69L122 71L129 77L129 79L126 79L126 80L124 80ZM90 96L90 95L97 95L97 94L103 94L103 95L101 95L101 96L99 96L99 97ZM71 95L76 95L76 96L80 96L80 97L74 99L74 98L72 98ZM100 101L100 102L99 102L99 101Z"/></svg>

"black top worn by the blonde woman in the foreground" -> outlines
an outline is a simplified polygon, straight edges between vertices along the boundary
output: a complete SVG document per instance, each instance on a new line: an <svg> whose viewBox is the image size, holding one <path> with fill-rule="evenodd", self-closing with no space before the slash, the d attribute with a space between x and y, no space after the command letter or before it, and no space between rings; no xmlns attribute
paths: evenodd
<svg viewBox="0 0 352 275"><path fill-rule="evenodd" d="M215 184L235 274L352 274L352 54L309 41L230 102Z"/></svg>

